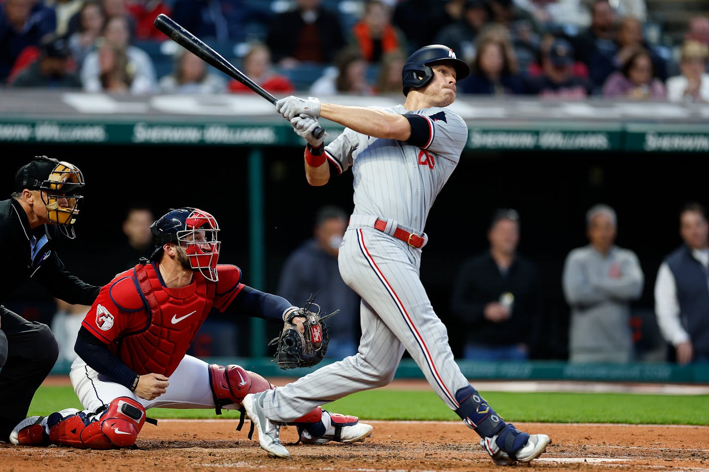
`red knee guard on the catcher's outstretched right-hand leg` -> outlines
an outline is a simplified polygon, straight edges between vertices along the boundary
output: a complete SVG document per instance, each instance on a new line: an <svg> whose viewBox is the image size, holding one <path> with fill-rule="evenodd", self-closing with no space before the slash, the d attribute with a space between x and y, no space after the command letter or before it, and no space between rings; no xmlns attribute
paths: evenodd
<svg viewBox="0 0 709 472"><path fill-rule="evenodd" d="M224 405L232 403L241 405L241 400L248 393L263 392L275 388L272 383L258 373L247 371L242 366L235 364L228 366L210 364L209 380L217 415L221 415L221 408Z"/></svg>

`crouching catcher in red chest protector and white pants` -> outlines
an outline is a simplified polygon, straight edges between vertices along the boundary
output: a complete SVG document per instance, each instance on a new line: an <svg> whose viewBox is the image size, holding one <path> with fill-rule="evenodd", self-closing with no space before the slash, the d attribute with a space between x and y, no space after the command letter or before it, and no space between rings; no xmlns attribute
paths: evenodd
<svg viewBox="0 0 709 472"><path fill-rule="evenodd" d="M270 320L296 307L241 283L237 266L219 264L216 220L178 208L150 227L155 251L101 288L74 347L69 374L84 411L69 408L28 417L13 444L90 449L130 446L149 408L241 409L247 393L274 388L241 366L219 366L186 355L212 308ZM305 320L298 317L301 323ZM311 408L292 422L306 443L357 442L372 426L357 417ZM239 428L238 428L239 429Z"/></svg>

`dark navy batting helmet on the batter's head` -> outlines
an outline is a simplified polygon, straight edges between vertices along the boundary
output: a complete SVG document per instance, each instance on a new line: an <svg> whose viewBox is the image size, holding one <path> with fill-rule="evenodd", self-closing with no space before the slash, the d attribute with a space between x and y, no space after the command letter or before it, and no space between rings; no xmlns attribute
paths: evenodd
<svg viewBox="0 0 709 472"><path fill-rule="evenodd" d="M411 89L423 87L433 79L431 64L447 62L455 69L456 80L462 80L470 74L468 64L455 57L455 52L445 45L433 44L421 47L406 60L401 69L403 94L407 95Z"/></svg>

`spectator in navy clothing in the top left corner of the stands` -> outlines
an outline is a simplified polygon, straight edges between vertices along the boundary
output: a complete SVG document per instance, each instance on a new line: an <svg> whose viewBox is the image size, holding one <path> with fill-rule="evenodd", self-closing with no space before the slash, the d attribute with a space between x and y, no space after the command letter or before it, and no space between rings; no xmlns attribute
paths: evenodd
<svg viewBox="0 0 709 472"><path fill-rule="evenodd" d="M35 60L37 46L44 35L57 29L57 17L54 10L35 0L4 0L0 2L0 83L6 83L9 77L19 69ZM18 61L23 50L33 49L31 57ZM19 64L22 62L22 64ZM13 71L13 67L16 70Z"/></svg>

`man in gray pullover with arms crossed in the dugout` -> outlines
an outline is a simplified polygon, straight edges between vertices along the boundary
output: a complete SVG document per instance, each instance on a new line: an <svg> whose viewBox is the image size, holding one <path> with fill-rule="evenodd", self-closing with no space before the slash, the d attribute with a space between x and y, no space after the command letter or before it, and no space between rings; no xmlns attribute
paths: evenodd
<svg viewBox="0 0 709 472"><path fill-rule="evenodd" d="M591 207L586 213L591 244L573 249L564 263L571 362L633 360L630 303L640 298L644 275L635 252L615 246L616 221L610 206Z"/></svg>

